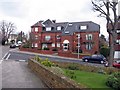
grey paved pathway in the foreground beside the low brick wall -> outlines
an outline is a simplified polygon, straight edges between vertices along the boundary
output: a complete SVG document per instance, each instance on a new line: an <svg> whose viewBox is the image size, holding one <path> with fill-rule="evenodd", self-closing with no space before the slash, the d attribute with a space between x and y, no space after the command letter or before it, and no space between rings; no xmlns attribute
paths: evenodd
<svg viewBox="0 0 120 90"><path fill-rule="evenodd" d="M2 62L2 88L45 88L43 82L27 67L27 62Z"/></svg>

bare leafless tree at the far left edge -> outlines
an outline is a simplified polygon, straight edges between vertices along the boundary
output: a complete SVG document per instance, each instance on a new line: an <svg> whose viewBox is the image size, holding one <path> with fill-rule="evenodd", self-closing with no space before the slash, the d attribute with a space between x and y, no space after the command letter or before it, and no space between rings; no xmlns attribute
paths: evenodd
<svg viewBox="0 0 120 90"><path fill-rule="evenodd" d="M8 41L8 38L10 37L10 34L16 29L14 23L2 21L0 22L0 30L2 31L2 44L4 45L6 41Z"/></svg>

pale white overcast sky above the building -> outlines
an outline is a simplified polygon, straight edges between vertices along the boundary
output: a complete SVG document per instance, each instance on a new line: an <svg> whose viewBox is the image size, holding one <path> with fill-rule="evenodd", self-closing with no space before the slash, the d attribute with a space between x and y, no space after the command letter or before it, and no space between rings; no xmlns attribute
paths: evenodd
<svg viewBox="0 0 120 90"><path fill-rule="evenodd" d="M93 21L101 26L107 36L106 21L93 12L91 0L0 0L0 21L15 23L17 32L30 31L30 26L39 20L56 22Z"/></svg>

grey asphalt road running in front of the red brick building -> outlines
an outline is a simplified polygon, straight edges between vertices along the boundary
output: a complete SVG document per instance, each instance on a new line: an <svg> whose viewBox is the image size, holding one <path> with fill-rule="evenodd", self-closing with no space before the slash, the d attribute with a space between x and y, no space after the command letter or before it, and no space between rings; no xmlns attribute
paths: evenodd
<svg viewBox="0 0 120 90"><path fill-rule="evenodd" d="M58 62L69 62L69 63L79 63L79 64L87 64L91 66L97 67L104 67L103 64L97 63L86 63L83 62L81 59L73 59L73 58L64 58L59 56L52 56L52 55L43 55L37 53L28 53L28 52L21 52L19 50L10 50L9 53L4 57L6 60L16 60L16 61L27 61L29 58L33 58L36 55L41 57L42 59L48 58L51 61L58 61Z"/></svg>

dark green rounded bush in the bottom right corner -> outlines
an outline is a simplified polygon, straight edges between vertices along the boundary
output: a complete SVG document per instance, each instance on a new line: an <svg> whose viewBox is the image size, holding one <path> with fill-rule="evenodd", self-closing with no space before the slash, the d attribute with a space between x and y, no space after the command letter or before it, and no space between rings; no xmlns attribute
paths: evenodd
<svg viewBox="0 0 120 90"><path fill-rule="evenodd" d="M120 72L116 72L107 78L106 85L115 90L120 90Z"/></svg>

